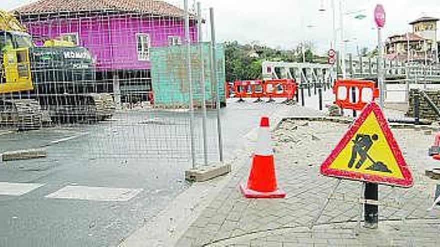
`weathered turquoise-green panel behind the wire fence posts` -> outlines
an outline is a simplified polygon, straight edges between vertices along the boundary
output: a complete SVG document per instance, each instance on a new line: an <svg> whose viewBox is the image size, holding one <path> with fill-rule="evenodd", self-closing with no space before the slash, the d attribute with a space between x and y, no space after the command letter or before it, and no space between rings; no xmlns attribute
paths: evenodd
<svg viewBox="0 0 440 247"><path fill-rule="evenodd" d="M220 91L220 102L225 102L224 96L224 49L223 45L216 45L217 79L211 82L210 75L210 44L201 43L204 60L204 87L206 104L213 106L215 102L215 85ZM191 45L191 74L194 105L200 106L201 95L201 66L198 44ZM150 49L151 82L154 93L154 104L167 107L189 106L189 80L186 70L186 46L176 45L167 47L153 47Z"/></svg>

